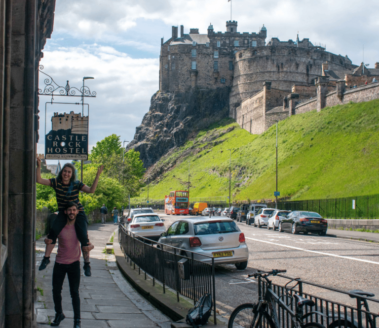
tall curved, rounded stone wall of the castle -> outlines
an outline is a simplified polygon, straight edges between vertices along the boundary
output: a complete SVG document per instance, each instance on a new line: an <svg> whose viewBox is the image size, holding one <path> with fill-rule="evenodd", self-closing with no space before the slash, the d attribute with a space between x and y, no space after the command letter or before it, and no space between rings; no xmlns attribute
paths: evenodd
<svg viewBox="0 0 379 328"><path fill-rule="evenodd" d="M244 99L256 94L264 81L271 81L272 88L288 92L293 85L313 84L325 61L329 62L329 69L353 67L346 57L316 47L264 46L236 53L233 86L229 97L231 111Z"/></svg>

